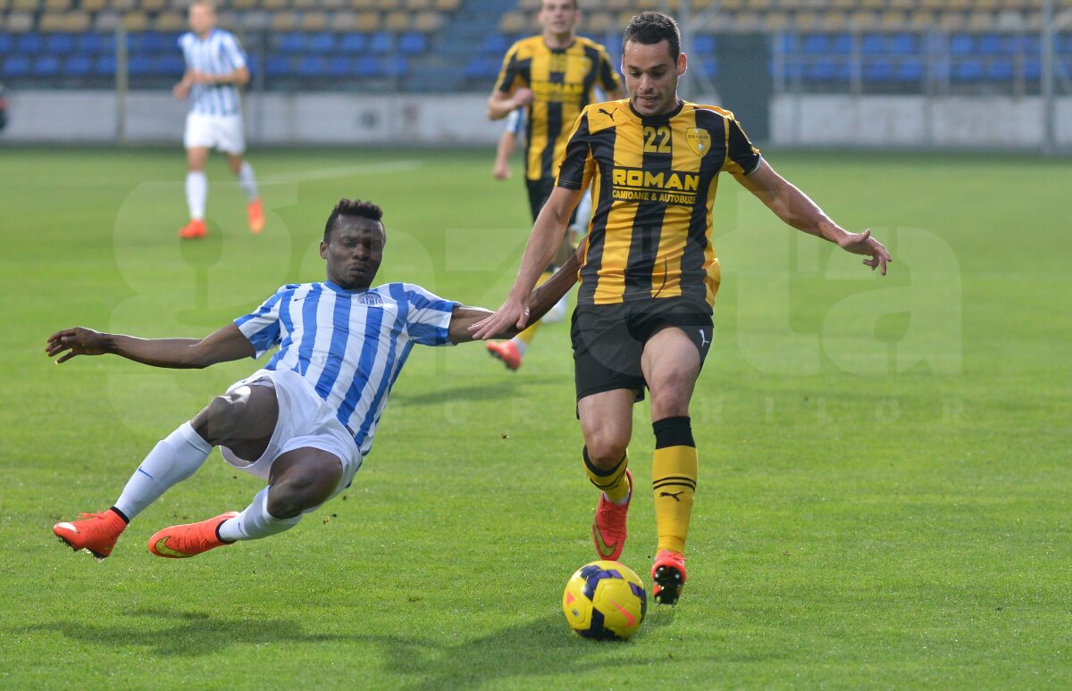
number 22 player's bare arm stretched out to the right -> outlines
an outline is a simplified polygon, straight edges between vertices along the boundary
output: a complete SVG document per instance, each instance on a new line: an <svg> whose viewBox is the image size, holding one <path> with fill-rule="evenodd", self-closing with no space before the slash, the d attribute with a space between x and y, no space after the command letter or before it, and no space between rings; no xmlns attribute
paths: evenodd
<svg viewBox="0 0 1072 691"><path fill-rule="evenodd" d="M834 223L822 209L795 185L774 171L762 161L759 168L748 176L736 176L746 190L756 195L787 224L823 240L829 240L846 252L867 257L864 264L885 275L885 265L893 261L885 245L872 237L870 230L849 232Z"/></svg>

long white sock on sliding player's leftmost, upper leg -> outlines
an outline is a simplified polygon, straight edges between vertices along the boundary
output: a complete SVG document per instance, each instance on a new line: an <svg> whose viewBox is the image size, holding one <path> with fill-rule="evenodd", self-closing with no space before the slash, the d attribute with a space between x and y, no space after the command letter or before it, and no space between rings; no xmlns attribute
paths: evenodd
<svg viewBox="0 0 1072 691"><path fill-rule="evenodd" d="M197 472L211 452L209 442L202 439L189 422L182 423L149 452L126 481L115 507L133 521L160 495Z"/></svg>

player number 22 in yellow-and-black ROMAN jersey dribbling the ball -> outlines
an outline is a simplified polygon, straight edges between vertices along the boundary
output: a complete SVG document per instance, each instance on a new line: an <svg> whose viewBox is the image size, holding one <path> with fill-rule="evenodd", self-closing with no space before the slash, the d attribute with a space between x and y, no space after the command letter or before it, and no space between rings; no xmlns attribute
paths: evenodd
<svg viewBox="0 0 1072 691"><path fill-rule="evenodd" d="M592 535L599 558L616 559L622 553L632 493L626 469L631 406L646 387L658 534L652 594L669 604L685 583L685 538L698 475L688 406L711 345L718 288L711 246L717 174L732 175L794 228L866 256L872 269L884 274L891 260L869 230L845 230L776 174L731 112L678 99L686 66L680 46L672 18L655 12L632 18L622 51L629 99L581 114L559 186L533 226L517 281L503 306L474 332L486 337L505 325L526 324L528 291L591 178L595 210L572 339L584 464L602 491Z"/></svg>

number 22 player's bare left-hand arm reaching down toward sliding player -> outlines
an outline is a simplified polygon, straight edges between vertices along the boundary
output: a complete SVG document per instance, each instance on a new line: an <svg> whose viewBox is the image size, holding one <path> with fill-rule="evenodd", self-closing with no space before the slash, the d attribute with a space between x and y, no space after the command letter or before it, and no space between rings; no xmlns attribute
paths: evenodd
<svg viewBox="0 0 1072 691"><path fill-rule="evenodd" d="M525 310L528 307L530 294L536 285L536 280L557 252L566 231L566 224L569 223L569 214L574 212L582 194L581 190L566 187L555 187L551 192L551 197L540 209L532 235L528 236L513 287L494 314L470 327L474 340L497 339L498 334L505 333L508 329L522 330L528 326L530 313Z"/></svg>

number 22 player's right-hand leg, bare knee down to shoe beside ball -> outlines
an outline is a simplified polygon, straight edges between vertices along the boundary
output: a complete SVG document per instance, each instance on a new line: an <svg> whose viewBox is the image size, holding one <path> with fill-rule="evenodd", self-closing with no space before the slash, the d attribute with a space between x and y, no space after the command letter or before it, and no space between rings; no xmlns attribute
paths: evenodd
<svg viewBox="0 0 1072 691"><path fill-rule="evenodd" d="M652 335L641 358L652 393L655 432L652 489L658 547L652 566L652 597L660 604L676 603L686 579L685 540L699 474L688 404L700 363L697 343L675 327Z"/></svg>

